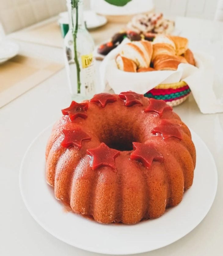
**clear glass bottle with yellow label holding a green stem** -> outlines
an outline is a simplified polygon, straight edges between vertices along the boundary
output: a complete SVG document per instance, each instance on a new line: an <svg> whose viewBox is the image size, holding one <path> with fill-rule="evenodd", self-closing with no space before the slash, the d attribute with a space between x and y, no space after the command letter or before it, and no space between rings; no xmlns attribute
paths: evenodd
<svg viewBox="0 0 223 256"><path fill-rule="evenodd" d="M76 8L73 6L74 2ZM64 38L65 64L72 100L80 102L95 94L95 46L84 22L83 1L67 0L67 7L69 31Z"/></svg>

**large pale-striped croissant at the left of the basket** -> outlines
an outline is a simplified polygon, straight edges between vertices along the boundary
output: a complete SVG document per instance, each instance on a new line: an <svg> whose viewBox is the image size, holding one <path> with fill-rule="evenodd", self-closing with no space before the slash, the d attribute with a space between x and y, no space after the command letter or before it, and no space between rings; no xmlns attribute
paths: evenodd
<svg viewBox="0 0 223 256"><path fill-rule="evenodd" d="M120 55L131 59L137 67L149 67L152 58L152 44L148 41L133 41L122 47Z"/></svg>

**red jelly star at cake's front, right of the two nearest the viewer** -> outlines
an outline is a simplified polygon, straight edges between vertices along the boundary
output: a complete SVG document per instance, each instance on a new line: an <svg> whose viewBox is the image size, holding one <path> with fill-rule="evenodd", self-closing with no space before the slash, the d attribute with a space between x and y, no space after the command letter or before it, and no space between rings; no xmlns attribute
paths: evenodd
<svg viewBox="0 0 223 256"><path fill-rule="evenodd" d="M152 144L133 142L133 149L130 159L142 162L145 167L149 168L153 160L163 160L163 155Z"/></svg>

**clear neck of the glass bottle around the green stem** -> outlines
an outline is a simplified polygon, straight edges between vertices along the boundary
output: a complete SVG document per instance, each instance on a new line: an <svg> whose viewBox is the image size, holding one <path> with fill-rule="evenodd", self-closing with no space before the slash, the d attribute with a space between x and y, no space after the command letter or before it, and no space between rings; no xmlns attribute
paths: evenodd
<svg viewBox="0 0 223 256"><path fill-rule="evenodd" d="M77 8L72 8L71 1L72 0L67 0L70 29L75 29L76 23L78 23L79 29L86 29L84 22L83 0L78 1ZM76 15L78 16L77 18Z"/></svg>

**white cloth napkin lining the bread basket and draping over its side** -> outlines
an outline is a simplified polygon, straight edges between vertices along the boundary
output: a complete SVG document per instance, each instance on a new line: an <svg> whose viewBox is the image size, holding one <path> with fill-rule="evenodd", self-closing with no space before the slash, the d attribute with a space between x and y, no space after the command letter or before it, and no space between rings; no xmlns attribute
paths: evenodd
<svg viewBox="0 0 223 256"><path fill-rule="evenodd" d="M180 64L177 71L152 71L142 73L124 72L117 68L115 57L123 44L112 50L103 60L100 68L101 83L104 90L113 89L116 94L122 91L135 91L145 94L159 84L185 81L204 114L223 112L223 95L217 98L214 85L213 58L203 52L195 52L196 67L190 64Z"/></svg>

